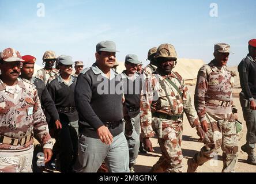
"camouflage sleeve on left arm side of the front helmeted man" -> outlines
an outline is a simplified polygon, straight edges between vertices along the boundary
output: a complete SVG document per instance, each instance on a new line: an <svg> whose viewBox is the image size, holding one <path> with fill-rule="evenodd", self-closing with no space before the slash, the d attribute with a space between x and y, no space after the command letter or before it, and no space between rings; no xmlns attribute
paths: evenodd
<svg viewBox="0 0 256 184"><path fill-rule="evenodd" d="M145 137L153 137L154 132L152 128L152 113L151 104L153 99L153 86L149 78L142 87L141 91L141 104L140 104L140 119L141 119L141 135Z"/></svg>

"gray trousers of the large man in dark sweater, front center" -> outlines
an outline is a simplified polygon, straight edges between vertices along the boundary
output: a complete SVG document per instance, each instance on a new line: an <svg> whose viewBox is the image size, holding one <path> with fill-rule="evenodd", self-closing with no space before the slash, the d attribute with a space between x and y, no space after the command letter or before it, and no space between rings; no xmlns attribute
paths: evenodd
<svg viewBox="0 0 256 184"><path fill-rule="evenodd" d="M129 173L129 151L124 133L113 137L111 145L100 139L79 136L77 173L96 173L105 160L110 173Z"/></svg>

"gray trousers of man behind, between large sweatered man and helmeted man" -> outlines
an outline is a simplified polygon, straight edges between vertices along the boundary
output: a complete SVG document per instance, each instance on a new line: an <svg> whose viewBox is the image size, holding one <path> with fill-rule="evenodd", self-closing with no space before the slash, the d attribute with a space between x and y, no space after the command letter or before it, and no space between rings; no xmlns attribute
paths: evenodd
<svg viewBox="0 0 256 184"><path fill-rule="evenodd" d="M131 122L133 124L133 133L131 136L125 135L125 137L129 148L130 164L134 164L136 163L140 148L140 113L131 118Z"/></svg>

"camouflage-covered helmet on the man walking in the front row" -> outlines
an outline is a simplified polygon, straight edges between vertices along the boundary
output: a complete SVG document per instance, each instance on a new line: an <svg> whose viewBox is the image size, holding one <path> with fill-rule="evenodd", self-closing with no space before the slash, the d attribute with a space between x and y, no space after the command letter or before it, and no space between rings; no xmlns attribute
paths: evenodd
<svg viewBox="0 0 256 184"><path fill-rule="evenodd" d="M175 51L174 45L171 44L161 44L159 48L157 48L156 56L158 57L167 57L167 58L175 58L177 59L177 53Z"/></svg>

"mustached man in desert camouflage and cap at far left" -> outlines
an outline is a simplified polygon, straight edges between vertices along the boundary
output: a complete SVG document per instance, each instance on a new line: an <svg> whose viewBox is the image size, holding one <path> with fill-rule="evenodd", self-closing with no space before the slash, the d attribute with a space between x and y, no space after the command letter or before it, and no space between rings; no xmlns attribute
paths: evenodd
<svg viewBox="0 0 256 184"><path fill-rule="evenodd" d="M48 132L37 90L18 78L20 53L7 48L0 53L0 173L31 173L33 133L43 145L44 161L52 155Z"/></svg>

